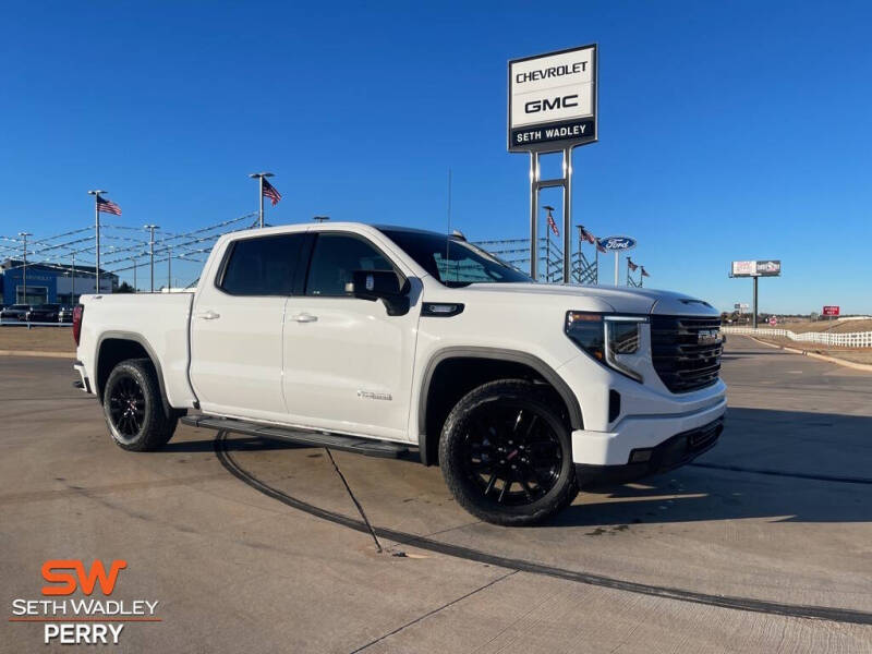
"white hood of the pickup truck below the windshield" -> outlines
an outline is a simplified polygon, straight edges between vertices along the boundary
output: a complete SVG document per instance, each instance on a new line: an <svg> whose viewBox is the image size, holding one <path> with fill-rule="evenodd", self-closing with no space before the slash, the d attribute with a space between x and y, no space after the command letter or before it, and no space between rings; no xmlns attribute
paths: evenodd
<svg viewBox="0 0 872 654"><path fill-rule="evenodd" d="M584 308L572 306L573 298L600 301L608 304L613 311L631 314L663 315L720 315L707 302L656 289L632 289L614 286L578 286L558 283L473 283L463 288L465 292L517 293L519 295L553 296L566 303L566 308Z"/></svg>

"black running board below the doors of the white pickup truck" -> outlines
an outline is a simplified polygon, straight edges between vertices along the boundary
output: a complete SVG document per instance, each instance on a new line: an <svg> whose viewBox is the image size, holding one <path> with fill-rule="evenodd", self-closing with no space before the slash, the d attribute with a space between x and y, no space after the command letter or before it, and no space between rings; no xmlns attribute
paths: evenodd
<svg viewBox="0 0 872 654"><path fill-rule="evenodd" d="M330 449L366 455L367 457L380 457L383 459L397 459L409 453L409 447L399 443L373 440L359 436L343 436L341 434L325 434L324 432L306 432L304 429L264 425L229 417L184 415L181 417L181 422L192 427L233 432L237 434L245 434L246 436L257 436L259 438L271 438L275 440L286 440L308 447L328 447Z"/></svg>

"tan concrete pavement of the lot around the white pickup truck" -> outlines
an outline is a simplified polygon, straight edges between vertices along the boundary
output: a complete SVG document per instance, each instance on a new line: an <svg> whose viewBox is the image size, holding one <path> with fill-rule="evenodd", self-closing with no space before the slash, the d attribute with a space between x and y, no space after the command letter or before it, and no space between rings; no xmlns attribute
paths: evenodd
<svg viewBox="0 0 872 654"><path fill-rule="evenodd" d="M376 554L367 534L231 475L214 433L117 448L69 365L0 360L8 615L41 597L47 559L123 558L112 598L157 600L162 619L125 623L125 652L872 652L868 374L730 337L728 426L699 465L583 494L534 529L475 521L438 469L335 452L395 536ZM223 448L276 496L358 520L323 449L233 435ZM40 625L4 622L0 651L37 649Z"/></svg>

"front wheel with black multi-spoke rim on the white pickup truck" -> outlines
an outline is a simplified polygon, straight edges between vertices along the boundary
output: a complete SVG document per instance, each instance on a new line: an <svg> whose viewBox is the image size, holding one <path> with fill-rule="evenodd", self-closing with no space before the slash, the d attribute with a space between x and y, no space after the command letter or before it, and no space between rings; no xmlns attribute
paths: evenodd
<svg viewBox="0 0 872 654"><path fill-rule="evenodd" d="M489 382L455 405L439 465L457 501L494 524L540 522L579 493L565 411L522 379Z"/></svg>

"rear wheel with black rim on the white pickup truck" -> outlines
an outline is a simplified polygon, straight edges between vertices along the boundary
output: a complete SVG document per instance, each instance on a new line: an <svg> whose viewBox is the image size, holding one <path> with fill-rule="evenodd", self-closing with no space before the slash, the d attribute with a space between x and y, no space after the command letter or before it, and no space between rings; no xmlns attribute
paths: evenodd
<svg viewBox="0 0 872 654"><path fill-rule="evenodd" d="M116 444L136 452L160 449L175 432L179 417L164 411L160 385L148 359L122 361L106 380L102 410Z"/></svg>

